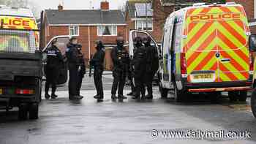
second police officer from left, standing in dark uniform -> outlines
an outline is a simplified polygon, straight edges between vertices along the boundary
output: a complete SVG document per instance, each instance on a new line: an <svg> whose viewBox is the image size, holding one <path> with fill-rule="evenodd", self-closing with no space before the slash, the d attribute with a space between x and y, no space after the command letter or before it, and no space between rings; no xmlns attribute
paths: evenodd
<svg viewBox="0 0 256 144"><path fill-rule="evenodd" d="M67 44L66 56L69 67L69 99L83 99L83 96L78 94L78 69L79 69L79 52L78 39L71 37Z"/></svg>

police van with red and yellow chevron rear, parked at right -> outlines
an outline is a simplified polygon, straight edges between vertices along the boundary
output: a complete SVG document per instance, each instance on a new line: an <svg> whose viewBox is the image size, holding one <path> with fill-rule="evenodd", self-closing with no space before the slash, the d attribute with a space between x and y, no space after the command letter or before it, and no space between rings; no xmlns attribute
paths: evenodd
<svg viewBox="0 0 256 144"><path fill-rule="evenodd" d="M162 96L174 89L181 102L190 93L209 92L215 101L228 91L230 100L246 101L253 72L249 35L244 8L233 2L197 3L171 13L161 46Z"/></svg>

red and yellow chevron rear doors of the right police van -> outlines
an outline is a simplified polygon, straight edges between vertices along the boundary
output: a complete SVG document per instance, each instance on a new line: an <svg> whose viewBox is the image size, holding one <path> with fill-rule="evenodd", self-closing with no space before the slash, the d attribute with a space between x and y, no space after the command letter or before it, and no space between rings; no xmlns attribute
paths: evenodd
<svg viewBox="0 0 256 144"><path fill-rule="evenodd" d="M241 6L196 8L187 12L185 42L188 81L249 79L246 15Z"/></svg>

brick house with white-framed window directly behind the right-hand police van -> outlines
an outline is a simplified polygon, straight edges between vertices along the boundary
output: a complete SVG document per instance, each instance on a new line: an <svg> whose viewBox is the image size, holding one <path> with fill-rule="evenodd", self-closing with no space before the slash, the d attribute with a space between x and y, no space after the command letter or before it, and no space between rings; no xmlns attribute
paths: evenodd
<svg viewBox="0 0 256 144"><path fill-rule="evenodd" d="M203 1L203 0L202 0ZM223 0L214 0L212 2L222 2ZM130 29L145 29L145 23L148 21L148 31L153 35L157 42L161 42L162 29L166 18L174 10L192 5L196 0L128 0L126 4L125 20L127 23L127 37ZM145 18L146 3L148 4L148 18ZM144 6L144 7L143 7ZM138 15L140 11L144 15ZM151 15L153 14L153 15Z"/></svg>

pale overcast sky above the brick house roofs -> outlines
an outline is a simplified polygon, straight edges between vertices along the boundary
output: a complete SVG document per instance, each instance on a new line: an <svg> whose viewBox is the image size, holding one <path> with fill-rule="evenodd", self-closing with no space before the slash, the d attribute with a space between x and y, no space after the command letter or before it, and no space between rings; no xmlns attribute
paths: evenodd
<svg viewBox="0 0 256 144"><path fill-rule="evenodd" d="M30 0L37 4L41 10L57 9L59 4L64 2L64 9L99 9L100 1L105 0ZM91 2L90 2L91 1ZM110 2L110 9L118 9L124 5L126 0L108 0Z"/></svg>

